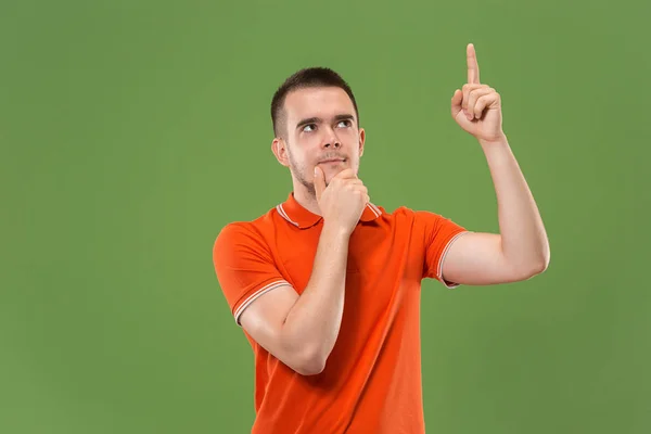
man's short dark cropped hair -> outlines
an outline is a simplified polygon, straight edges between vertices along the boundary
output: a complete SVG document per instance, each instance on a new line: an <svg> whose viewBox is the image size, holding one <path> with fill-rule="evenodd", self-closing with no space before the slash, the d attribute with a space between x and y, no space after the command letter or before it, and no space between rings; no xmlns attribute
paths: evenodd
<svg viewBox="0 0 651 434"><path fill-rule="evenodd" d="M286 130L286 117L283 110L288 93L297 89L318 87L337 87L343 89L350 97L350 101L353 101L357 125L359 126L359 111L350 86L334 71L328 67L314 66L292 74L273 93L273 98L271 99L271 124L276 137L280 137L280 132Z"/></svg>

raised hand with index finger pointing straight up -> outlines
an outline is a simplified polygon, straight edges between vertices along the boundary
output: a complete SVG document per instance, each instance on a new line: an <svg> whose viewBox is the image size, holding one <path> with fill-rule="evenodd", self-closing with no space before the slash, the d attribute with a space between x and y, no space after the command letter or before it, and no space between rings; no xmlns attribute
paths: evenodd
<svg viewBox="0 0 651 434"><path fill-rule="evenodd" d="M500 95L487 85L480 84L480 65L472 43L468 44L468 82L452 95L452 118L477 140L502 140Z"/></svg>

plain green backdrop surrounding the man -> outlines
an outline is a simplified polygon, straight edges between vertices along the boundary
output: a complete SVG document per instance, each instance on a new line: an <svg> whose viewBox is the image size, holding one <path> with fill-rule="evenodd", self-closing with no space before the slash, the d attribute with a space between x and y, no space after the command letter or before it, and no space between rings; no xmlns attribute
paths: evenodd
<svg viewBox="0 0 651 434"><path fill-rule="evenodd" d="M291 189L269 103L299 67L353 86L374 203L497 230L449 115L468 42L551 264L423 283L427 432L651 432L648 4L2 2L0 433L250 431L212 247Z"/></svg>

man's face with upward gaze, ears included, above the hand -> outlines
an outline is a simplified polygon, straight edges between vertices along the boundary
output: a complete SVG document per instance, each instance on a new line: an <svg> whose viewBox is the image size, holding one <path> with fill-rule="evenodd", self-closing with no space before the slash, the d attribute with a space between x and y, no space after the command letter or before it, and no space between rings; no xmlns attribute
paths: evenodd
<svg viewBox="0 0 651 434"><path fill-rule="evenodd" d="M285 138L276 138L272 150L290 168L294 188L315 194L314 170L319 166L326 183L340 171L359 169L365 131L357 128L355 106L340 88L307 88L292 91L284 102Z"/></svg>

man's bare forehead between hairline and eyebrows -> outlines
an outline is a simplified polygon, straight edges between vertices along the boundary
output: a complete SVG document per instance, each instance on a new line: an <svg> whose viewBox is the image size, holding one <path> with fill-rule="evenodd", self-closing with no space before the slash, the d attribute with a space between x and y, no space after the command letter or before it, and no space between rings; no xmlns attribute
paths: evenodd
<svg viewBox="0 0 651 434"><path fill-rule="evenodd" d="M306 117L329 118L345 113L355 116L350 97L336 87L293 90L285 98L284 108L289 125L295 125Z"/></svg>

